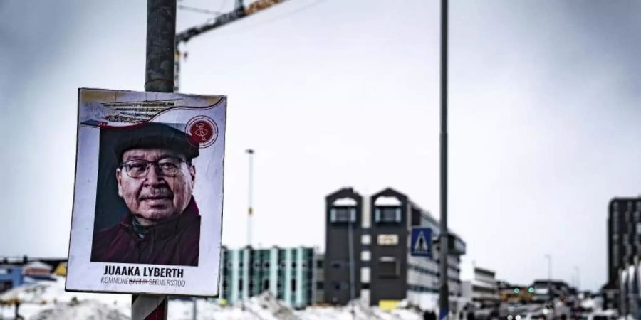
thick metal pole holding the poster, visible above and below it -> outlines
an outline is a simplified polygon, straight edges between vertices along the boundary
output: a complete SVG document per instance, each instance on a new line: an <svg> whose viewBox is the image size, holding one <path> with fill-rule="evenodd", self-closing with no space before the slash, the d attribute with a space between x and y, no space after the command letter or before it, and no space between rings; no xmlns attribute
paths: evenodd
<svg viewBox="0 0 641 320"><path fill-rule="evenodd" d="M147 1L145 91L174 91L176 1ZM167 320L167 296L132 295L132 320Z"/></svg>

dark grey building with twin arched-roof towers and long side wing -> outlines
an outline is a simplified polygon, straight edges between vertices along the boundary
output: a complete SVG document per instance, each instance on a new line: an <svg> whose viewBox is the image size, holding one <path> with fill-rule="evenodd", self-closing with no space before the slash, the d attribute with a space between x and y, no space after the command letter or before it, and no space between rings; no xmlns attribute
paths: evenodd
<svg viewBox="0 0 641 320"><path fill-rule="evenodd" d="M407 299L425 309L437 305L437 246L432 257L410 255L413 227L431 228L434 239L439 237L439 223L429 212L392 188L372 196L342 188L325 198L325 206L325 302L344 305L360 298L378 305ZM464 253L465 243L450 232L448 278L454 303L461 296Z"/></svg>

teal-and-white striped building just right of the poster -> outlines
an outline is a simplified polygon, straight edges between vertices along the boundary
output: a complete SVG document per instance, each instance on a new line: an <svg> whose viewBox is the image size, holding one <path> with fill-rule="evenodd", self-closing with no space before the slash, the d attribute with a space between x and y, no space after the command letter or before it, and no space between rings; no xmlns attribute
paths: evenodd
<svg viewBox="0 0 641 320"><path fill-rule="evenodd" d="M303 308L314 301L315 263L311 247L223 247L220 297L233 304L269 291L284 304Z"/></svg>

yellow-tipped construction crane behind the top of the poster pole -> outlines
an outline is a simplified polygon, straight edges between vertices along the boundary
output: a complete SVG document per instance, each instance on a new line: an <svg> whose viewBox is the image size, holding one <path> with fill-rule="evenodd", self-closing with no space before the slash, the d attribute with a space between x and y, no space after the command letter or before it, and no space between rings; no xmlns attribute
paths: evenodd
<svg viewBox="0 0 641 320"><path fill-rule="evenodd" d="M181 43L187 43L187 41L191 40L195 36L199 36L207 31L222 27L227 23L231 23L241 18L251 16L252 14L256 14L257 12L263 11L264 9L268 9L275 4L280 4L285 1L287 0L258 0L249 4L249 6L244 6L243 0L236 0L236 4L234 4L234 10L226 12L224 14L217 14L216 18L214 18L214 21L212 22L204 23L200 26L194 26L192 28L188 28L185 31L177 33L175 40L176 52L174 55L174 92L178 92L179 89L180 59L182 58L182 53L180 52Z"/></svg>

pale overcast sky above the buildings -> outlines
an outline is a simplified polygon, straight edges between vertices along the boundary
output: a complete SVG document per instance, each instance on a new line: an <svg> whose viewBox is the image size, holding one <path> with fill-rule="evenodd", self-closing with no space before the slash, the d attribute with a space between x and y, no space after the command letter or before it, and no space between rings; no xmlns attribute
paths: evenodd
<svg viewBox="0 0 641 320"><path fill-rule="evenodd" d="M210 10L234 1L184 0ZM605 283L606 215L641 194L641 2L450 1L449 225L528 284ZM208 16L179 11L178 29ZM144 90L146 1L0 1L0 255L68 249L78 87ZM223 242L324 246L324 197L439 215L439 1L291 0L194 38L181 91L229 97Z"/></svg>

